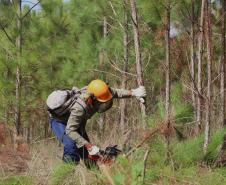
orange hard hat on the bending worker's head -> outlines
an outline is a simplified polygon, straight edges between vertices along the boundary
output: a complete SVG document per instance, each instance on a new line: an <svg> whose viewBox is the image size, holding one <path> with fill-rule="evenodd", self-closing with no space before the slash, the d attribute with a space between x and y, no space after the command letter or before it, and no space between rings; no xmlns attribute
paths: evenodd
<svg viewBox="0 0 226 185"><path fill-rule="evenodd" d="M108 85L102 80L93 80L87 87L88 93L92 93L100 102L107 102L112 99L112 93Z"/></svg>

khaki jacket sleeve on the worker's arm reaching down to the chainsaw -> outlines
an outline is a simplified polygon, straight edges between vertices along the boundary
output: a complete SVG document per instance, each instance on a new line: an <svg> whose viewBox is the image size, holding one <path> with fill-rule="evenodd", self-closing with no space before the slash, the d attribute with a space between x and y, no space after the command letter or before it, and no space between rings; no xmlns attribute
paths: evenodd
<svg viewBox="0 0 226 185"><path fill-rule="evenodd" d="M84 109L77 103L71 108L66 134L76 142L78 148L84 146L88 141L79 133L79 128L86 122Z"/></svg>

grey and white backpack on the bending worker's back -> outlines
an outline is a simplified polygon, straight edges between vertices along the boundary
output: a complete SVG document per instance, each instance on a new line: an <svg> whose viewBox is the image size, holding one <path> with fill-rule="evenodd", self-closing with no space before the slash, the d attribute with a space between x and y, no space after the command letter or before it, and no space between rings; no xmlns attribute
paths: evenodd
<svg viewBox="0 0 226 185"><path fill-rule="evenodd" d="M55 90L46 100L47 110L55 116L63 116L70 113L71 107L77 102L87 112L88 105L80 98L83 92L86 92L86 88L73 87L72 90Z"/></svg>

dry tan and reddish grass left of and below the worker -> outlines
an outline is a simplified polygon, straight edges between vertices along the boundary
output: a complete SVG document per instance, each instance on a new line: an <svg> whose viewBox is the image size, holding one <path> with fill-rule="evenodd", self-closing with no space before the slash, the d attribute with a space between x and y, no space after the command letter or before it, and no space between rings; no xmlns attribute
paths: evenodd
<svg viewBox="0 0 226 185"><path fill-rule="evenodd" d="M0 165L0 184L11 177L17 178L19 183L21 177L31 178L34 185L107 184L99 170L88 170L82 162L79 165L63 163L62 152L63 146L59 146L56 141L31 145L29 158L26 159L16 151L5 151L11 158L8 160L0 158L0 162L5 161L6 164ZM61 171L64 169L68 173L62 175Z"/></svg>

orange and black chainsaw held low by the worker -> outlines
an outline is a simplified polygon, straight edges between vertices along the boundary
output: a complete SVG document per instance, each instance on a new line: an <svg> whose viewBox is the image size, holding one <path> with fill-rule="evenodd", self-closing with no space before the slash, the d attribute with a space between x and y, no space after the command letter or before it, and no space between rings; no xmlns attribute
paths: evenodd
<svg viewBox="0 0 226 185"><path fill-rule="evenodd" d="M89 156L89 158L99 164L111 165L121 152L122 151L117 148L117 145L110 145L104 150L99 150L97 155Z"/></svg>

